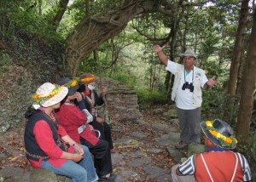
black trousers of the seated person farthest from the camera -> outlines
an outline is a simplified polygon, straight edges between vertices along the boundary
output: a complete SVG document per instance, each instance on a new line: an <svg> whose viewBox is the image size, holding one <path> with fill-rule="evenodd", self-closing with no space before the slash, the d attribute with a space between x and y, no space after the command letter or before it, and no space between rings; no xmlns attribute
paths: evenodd
<svg viewBox="0 0 256 182"><path fill-rule="evenodd" d="M93 121L91 122L91 125L93 128L99 130L101 132L101 137L100 139L104 139L108 141L109 148L113 149L113 140L112 140L112 135L111 135L111 128L107 122L96 122Z"/></svg>

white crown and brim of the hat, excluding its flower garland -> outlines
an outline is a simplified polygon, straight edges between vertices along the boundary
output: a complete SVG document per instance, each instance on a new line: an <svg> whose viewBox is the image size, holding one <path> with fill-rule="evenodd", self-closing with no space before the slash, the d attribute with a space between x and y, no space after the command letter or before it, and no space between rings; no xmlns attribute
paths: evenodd
<svg viewBox="0 0 256 182"><path fill-rule="evenodd" d="M58 86L59 87L59 86ZM44 98L44 100L40 101L40 105L43 107L49 107L52 105L55 105L61 100L63 100L67 93L68 93L68 88L66 87L60 87L60 90L56 92L52 97L47 98L47 95L49 95L51 92L55 90L56 86L50 82L45 82L43 85L41 85L38 90L37 94L41 97Z"/></svg>

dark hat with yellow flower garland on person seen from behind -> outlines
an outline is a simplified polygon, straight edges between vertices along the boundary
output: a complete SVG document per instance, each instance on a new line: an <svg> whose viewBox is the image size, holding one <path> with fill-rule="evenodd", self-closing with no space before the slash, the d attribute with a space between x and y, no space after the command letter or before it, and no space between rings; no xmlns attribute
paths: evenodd
<svg viewBox="0 0 256 182"><path fill-rule="evenodd" d="M237 140L233 136L233 130L227 122L220 119L201 122L201 129L214 145L224 149L235 149Z"/></svg>

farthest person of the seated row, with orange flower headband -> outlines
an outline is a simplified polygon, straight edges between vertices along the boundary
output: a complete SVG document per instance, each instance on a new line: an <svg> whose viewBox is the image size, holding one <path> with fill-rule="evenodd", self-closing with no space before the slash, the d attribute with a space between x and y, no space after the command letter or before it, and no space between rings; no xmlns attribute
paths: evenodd
<svg viewBox="0 0 256 182"><path fill-rule="evenodd" d="M93 116L93 122L90 124L93 128L96 128L101 132L101 139L108 141L110 146L110 151L114 153L113 140L111 134L111 128L107 122L104 121L102 117L98 117L97 105L103 105L103 97L107 94L107 88L102 88L102 94L98 95L96 93L95 87L95 77L90 73L84 73L80 76L80 88L79 92L83 95L84 105L90 111Z"/></svg>

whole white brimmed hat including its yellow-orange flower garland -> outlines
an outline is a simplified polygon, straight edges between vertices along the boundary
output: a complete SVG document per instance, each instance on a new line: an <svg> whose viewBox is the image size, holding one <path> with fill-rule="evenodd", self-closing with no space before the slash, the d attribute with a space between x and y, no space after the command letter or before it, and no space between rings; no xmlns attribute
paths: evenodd
<svg viewBox="0 0 256 182"><path fill-rule="evenodd" d="M33 104L42 105L43 107L55 105L66 97L67 92L68 89L66 87L45 82L38 88L37 93L32 96Z"/></svg>

